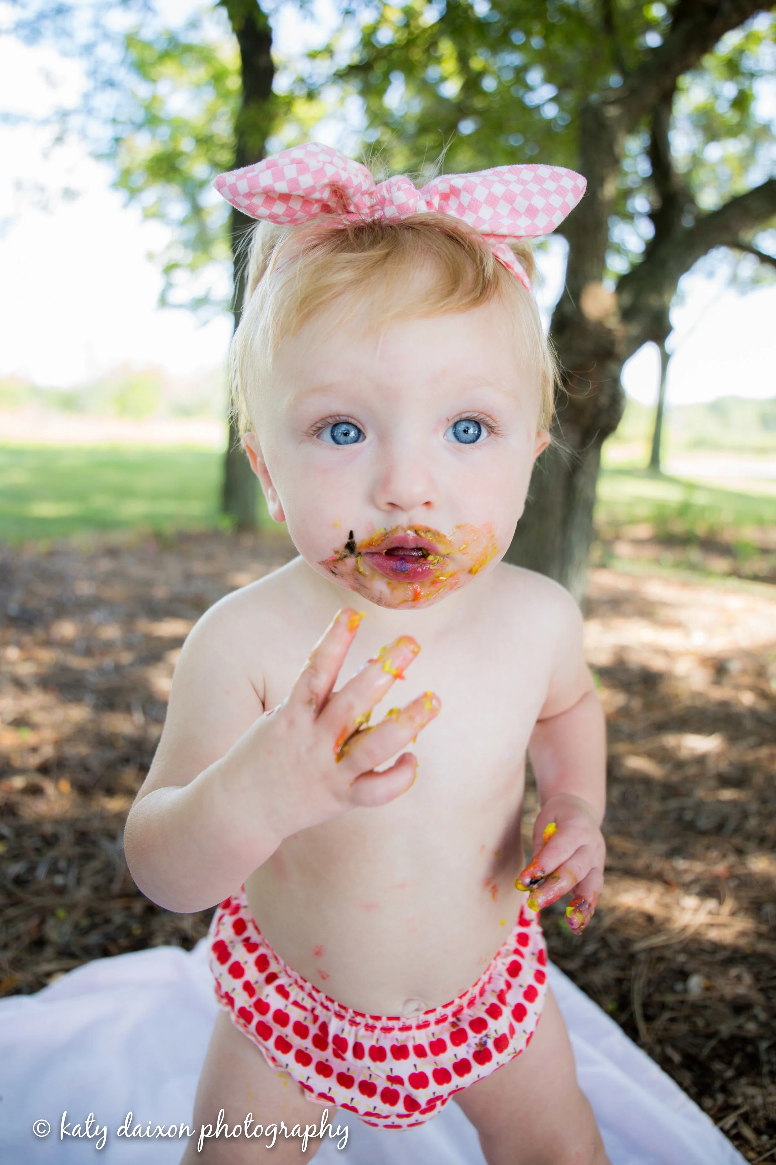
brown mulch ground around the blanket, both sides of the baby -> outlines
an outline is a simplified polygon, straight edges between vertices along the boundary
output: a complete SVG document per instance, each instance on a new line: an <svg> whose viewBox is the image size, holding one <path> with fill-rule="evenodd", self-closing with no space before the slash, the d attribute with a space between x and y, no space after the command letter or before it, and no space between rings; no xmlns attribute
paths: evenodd
<svg viewBox="0 0 776 1165"><path fill-rule="evenodd" d="M193 621L287 557L226 534L0 548L0 994L205 933L207 912L136 890L123 821ZM747 1160L776 1162L776 594L596 570L588 652L607 884L582 939L546 912L553 959Z"/></svg>

